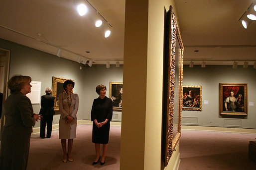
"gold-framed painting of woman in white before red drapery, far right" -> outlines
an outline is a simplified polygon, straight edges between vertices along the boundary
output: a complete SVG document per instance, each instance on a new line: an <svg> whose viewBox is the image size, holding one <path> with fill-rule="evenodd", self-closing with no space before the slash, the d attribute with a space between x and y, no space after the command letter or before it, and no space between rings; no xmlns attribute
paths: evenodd
<svg viewBox="0 0 256 170"><path fill-rule="evenodd" d="M247 115L247 84L220 83L220 114Z"/></svg>

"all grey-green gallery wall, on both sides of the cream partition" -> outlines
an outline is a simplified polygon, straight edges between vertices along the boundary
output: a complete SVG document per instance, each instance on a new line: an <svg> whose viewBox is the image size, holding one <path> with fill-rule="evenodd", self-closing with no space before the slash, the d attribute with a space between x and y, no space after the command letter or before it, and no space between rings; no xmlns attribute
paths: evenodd
<svg viewBox="0 0 256 170"><path fill-rule="evenodd" d="M74 93L79 94L78 119L89 119L93 99L98 95L95 87L104 84L109 89L109 82L123 81L123 65L79 64L65 58L47 54L16 43L0 39L0 48L10 50L9 78L14 74L29 75L34 81L41 81L41 95L44 89L52 86L52 76L70 78L75 81ZM82 66L82 70L79 67ZM256 69L253 66L233 69L231 65L207 65L202 68L195 65L190 68L184 65L183 85L202 86L202 111L182 111L183 125L238 127L256 129ZM219 114L219 83L247 83L248 115ZM107 96L108 96L107 92ZM208 104L204 101L208 100ZM253 102L254 106L249 106ZM39 104L33 104L34 113L40 110ZM121 116L122 112L114 111ZM57 124L59 115L54 116L53 124ZM39 127L37 122L35 127Z"/></svg>

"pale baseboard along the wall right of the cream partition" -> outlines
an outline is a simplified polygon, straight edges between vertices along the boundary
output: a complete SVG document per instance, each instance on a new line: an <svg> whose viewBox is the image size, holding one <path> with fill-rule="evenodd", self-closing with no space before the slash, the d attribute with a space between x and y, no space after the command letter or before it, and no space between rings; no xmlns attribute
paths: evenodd
<svg viewBox="0 0 256 170"><path fill-rule="evenodd" d="M188 126L181 125L181 130L204 130L204 131L221 131L236 133L256 133L256 129L231 128L231 127L210 127L210 126Z"/></svg>

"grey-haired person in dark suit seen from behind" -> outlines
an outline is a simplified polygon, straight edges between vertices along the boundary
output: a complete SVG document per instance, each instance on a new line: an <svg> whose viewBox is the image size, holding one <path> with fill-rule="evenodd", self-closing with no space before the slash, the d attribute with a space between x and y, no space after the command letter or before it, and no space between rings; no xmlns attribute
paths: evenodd
<svg viewBox="0 0 256 170"><path fill-rule="evenodd" d="M46 137L50 138L52 133L52 120L54 112L54 99L55 97L51 95L51 88L47 87L45 89L46 95L41 97L41 109L40 113L42 114L41 122L40 122L40 137L45 138L45 124L47 124L47 133Z"/></svg>

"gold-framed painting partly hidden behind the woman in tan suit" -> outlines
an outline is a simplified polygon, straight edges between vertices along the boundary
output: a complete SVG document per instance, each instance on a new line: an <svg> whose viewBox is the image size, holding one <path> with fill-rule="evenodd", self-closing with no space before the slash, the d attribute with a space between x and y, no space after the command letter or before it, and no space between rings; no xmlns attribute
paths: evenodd
<svg viewBox="0 0 256 170"><path fill-rule="evenodd" d="M52 76L52 96L55 97L55 100L54 100L55 111L59 111L58 98L59 98L59 94L64 92L63 83L66 80L69 80L69 79Z"/></svg>

